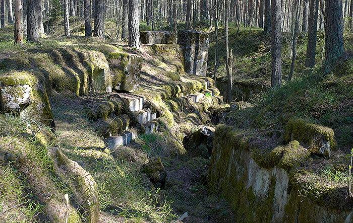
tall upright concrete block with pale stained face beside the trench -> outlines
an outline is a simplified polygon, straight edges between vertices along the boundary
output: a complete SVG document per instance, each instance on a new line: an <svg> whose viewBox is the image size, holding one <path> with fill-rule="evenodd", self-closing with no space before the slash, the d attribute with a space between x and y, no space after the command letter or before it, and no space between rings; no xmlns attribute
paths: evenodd
<svg viewBox="0 0 353 223"><path fill-rule="evenodd" d="M179 30L178 44L184 46L185 72L206 76L209 43L207 33Z"/></svg>

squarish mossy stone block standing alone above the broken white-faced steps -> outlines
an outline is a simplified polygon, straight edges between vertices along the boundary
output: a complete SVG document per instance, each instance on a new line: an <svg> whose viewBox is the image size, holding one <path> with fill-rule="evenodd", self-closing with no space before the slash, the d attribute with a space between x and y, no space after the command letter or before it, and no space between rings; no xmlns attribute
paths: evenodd
<svg viewBox="0 0 353 223"><path fill-rule="evenodd" d="M110 53L109 67L112 72L112 88L133 92L139 88L142 57L128 53Z"/></svg>

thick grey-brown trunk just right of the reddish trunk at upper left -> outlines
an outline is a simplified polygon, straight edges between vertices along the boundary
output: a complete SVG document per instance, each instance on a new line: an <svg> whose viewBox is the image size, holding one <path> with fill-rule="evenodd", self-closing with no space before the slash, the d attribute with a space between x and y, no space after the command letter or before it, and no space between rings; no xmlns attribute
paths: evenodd
<svg viewBox="0 0 353 223"><path fill-rule="evenodd" d="M27 1L27 41L39 42L42 27L41 0Z"/></svg>

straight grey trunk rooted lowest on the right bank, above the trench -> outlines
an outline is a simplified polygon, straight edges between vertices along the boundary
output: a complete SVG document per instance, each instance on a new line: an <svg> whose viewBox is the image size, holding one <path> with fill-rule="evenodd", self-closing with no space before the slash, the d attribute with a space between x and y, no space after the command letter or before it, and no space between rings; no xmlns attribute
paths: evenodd
<svg viewBox="0 0 353 223"><path fill-rule="evenodd" d="M280 0L271 1L271 29L272 29L272 49L271 49L271 87L282 85L282 59L281 59L281 5Z"/></svg>

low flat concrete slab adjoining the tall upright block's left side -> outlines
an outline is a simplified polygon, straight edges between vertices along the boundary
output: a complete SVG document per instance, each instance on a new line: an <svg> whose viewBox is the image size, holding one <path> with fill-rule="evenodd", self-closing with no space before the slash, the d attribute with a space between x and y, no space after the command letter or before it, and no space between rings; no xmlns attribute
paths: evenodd
<svg viewBox="0 0 353 223"><path fill-rule="evenodd" d="M177 36L168 31L141 31L143 44L177 44Z"/></svg>

